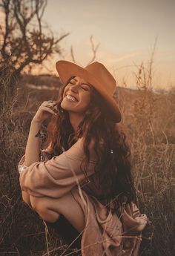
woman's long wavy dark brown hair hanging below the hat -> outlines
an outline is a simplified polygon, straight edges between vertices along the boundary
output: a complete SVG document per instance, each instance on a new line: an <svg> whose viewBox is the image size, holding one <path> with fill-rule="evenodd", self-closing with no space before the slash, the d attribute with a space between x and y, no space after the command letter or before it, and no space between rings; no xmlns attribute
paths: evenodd
<svg viewBox="0 0 175 256"><path fill-rule="evenodd" d="M99 177L101 199L107 200L108 209L110 209L109 203L112 200L114 212L122 203L136 201L136 191L131 175L131 150L126 142L125 133L120 131L119 126L110 119L102 96L94 88L85 117L79 123L75 133L68 112L61 107L67 84L62 85L59 90L58 116L52 116L47 125L48 137L45 145L50 144L53 150L52 156L55 156L62 154L63 148L69 149L80 137L83 137L85 158L82 160L84 166L82 171L86 179L86 168L90 160L88 146L93 138L94 150L98 157L95 172Z"/></svg>

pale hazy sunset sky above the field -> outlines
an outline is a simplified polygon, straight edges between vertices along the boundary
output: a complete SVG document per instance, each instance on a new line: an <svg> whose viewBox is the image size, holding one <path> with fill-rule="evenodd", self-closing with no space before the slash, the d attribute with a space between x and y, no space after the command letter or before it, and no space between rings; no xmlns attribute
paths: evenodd
<svg viewBox="0 0 175 256"><path fill-rule="evenodd" d="M47 0L44 22L57 36L70 33L55 55L37 72L56 73L59 59L85 67L93 56L90 36L99 44L96 61L102 62L119 86L134 87L136 73L151 59L153 86L175 86L175 0ZM49 70L49 71L48 71Z"/></svg>

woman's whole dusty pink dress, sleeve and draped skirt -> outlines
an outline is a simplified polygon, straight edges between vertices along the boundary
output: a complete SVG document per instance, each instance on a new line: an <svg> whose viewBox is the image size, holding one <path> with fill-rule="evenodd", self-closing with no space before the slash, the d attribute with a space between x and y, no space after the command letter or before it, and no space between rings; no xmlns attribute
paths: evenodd
<svg viewBox="0 0 175 256"><path fill-rule="evenodd" d="M124 206L122 214L108 211L105 203L96 198L100 195L94 171L96 154L90 148L87 184L80 168L83 157L82 139L51 159L46 150L41 150L40 161L28 167L24 165L23 156L18 165L22 191L42 200L62 197L67 192L73 194L85 214L82 256L138 256L142 236L141 232L136 232L135 218L140 215L139 209L131 203Z"/></svg>

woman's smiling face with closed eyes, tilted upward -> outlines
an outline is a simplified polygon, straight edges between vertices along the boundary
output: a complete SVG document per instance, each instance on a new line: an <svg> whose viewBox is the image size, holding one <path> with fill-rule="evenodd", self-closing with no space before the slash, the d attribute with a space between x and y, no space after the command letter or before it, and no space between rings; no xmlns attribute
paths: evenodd
<svg viewBox="0 0 175 256"><path fill-rule="evenodd" d="M83 114L90 103L92 86L79 76L70 79L63 92L61 107L69 112Z"/></svg>

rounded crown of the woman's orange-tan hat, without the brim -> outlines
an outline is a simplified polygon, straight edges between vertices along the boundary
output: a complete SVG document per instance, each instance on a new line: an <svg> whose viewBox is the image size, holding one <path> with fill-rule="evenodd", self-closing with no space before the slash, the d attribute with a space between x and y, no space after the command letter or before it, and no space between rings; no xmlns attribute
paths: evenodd
<svg viewBox="0 0 175 256"><path fill-rule="evenodd" d="M85 67L93 78L96 79L103 87L103 89L110 95L116 90L116 80L113 78L111 73L105 68L102 63L93 62Z"/></svg>

